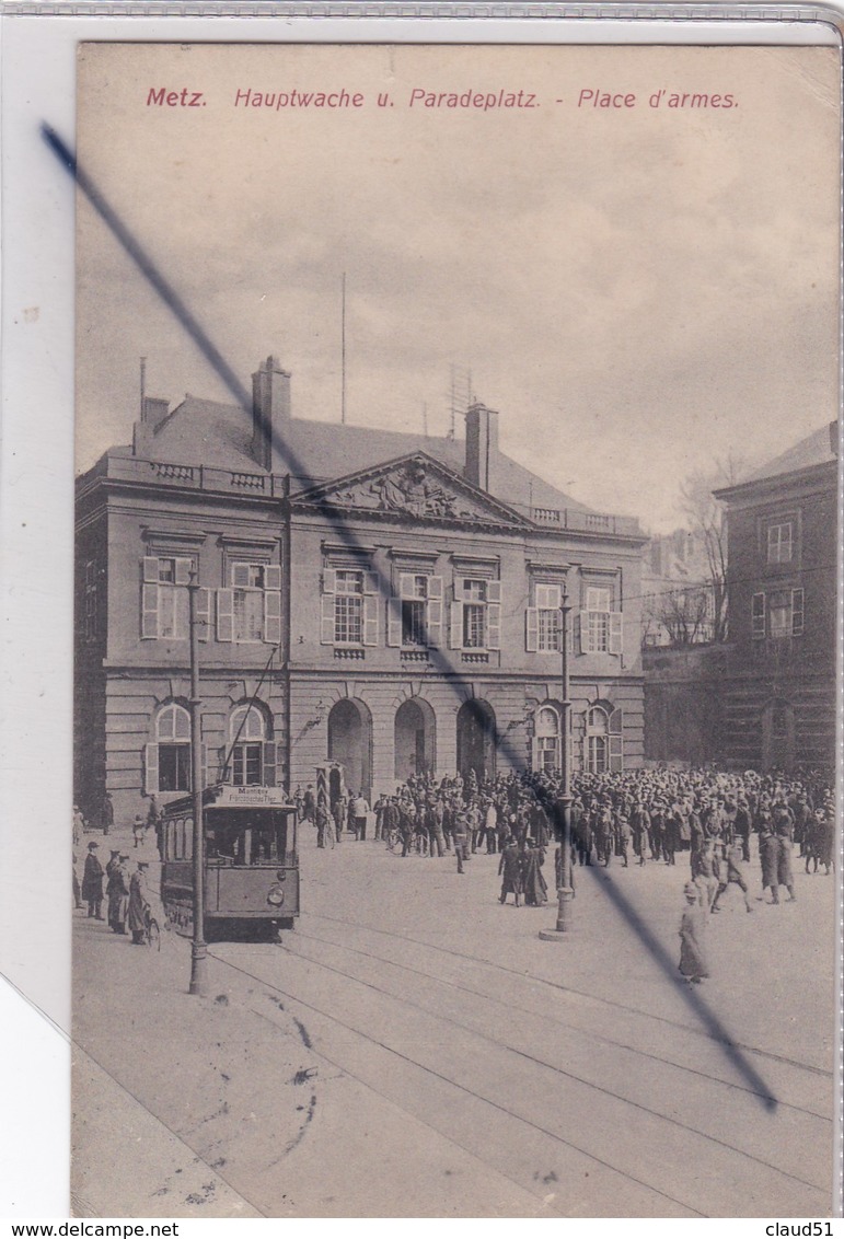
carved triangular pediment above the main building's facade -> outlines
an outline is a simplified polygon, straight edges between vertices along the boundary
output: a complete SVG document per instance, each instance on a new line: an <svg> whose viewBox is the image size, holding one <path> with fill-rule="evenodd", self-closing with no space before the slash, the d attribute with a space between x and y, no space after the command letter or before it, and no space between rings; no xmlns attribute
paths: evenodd
<svg viewBox="0 0 844 1239"><path fill-rule="evenodd" d="M513 508L472 486L426 452L413 452L323 482L294 496L292 502L331 512L380 513L398 520L530 527Z"/></svg>

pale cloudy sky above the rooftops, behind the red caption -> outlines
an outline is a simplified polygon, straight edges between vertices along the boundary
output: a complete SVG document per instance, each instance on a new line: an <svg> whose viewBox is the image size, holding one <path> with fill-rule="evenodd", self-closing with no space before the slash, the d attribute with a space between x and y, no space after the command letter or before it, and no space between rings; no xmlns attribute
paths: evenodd
<svg viewBox="0 0 844 1239"><path fill-rule="evenodd" d="M471 369L506 451L654 532L680 522L690 471L837 415L833 48L88 45L81 62L82 166L247 387L279 356L297 416L340 420L343 271L349 422L420 431L426 410L444 434L451 367ZM147 104L161 87L204 107ZM342 87L364 105L234 104ZM413 89L537 107L411 108ZM636 105L579 108L581 90ZM736 105L668 109L673 92ZM79 467L130 441L140 356L151 395L231 399L82 203L78 271Z"/></svg>

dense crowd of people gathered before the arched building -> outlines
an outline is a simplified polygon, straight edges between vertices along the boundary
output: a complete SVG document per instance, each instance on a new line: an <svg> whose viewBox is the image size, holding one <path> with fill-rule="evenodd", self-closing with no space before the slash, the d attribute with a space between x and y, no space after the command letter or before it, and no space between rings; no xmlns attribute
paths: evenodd
<svg viewBox="0 0 844 1239"><path fill-rule="evenodd" d="M296 789L300 818L317 831L317 846L373 836L403 857L452 852L457 872L480 851L499 856L499 901L518 906L548 900L543 875L547 852L563 834L561 782L549 774L504 774L478 781L470 772L435 779L411 777L380 795L369 810L363 797L340 797L328 807L312 786ZM781 888L794 892L794 849L807 873L834 867L833 779L823 771L786 776L715 768L635 769L576 773L569 807L569 882L580 866L638 867L688 865L687 908L680 923L680 971L689 981L706 975L698 911L718 913L730 891L750 898L745 866L751 839L758 841L761 883L768 902ZM555 849L555 887L561 885L561 851Z"/></svg>

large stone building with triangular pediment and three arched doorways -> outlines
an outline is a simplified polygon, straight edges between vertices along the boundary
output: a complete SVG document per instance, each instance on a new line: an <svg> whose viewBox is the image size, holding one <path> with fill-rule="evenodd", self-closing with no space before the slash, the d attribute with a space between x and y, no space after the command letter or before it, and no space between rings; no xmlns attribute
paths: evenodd
<svg viewBox="0 0 844 1239"><path fill-rule="evenodd" d="M186 585L201 586L207 783L374 795L410 773L642 761L641 548L498 450L291 416L268 358L252 410L145 399L77 489L77 799L94 820L190 787ZM232 747L233 746L233 747Z"/></svg>

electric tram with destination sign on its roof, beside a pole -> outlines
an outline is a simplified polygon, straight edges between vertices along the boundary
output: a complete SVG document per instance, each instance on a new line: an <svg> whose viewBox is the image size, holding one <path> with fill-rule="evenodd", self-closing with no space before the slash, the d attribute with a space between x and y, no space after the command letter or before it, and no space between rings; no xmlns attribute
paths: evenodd
<svg viewBox="0 0 844 1239"><path fill-rule="evenodd" d="M206 938L292 929L299 916L296 807L281 788L202 793ZM193 933L193 798L172 800L161 821L161 902L171 926Z"/></svg>

